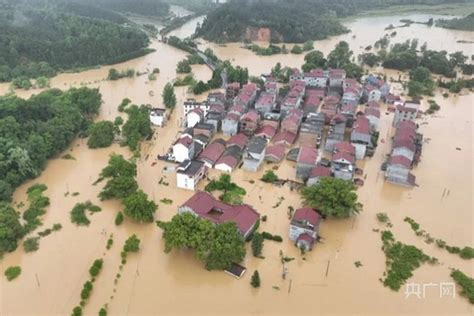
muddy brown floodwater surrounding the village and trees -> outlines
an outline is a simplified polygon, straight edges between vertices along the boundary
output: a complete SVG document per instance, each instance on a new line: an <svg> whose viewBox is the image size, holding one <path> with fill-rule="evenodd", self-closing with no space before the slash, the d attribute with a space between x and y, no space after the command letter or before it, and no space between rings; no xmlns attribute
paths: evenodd
<svg viewBox="0 0 474 316"><path fill-rule="evenodd" d="M381 19L367 18L351 22L360 25L354 29L356 39L351 45L357 41L358 45L365 47L378 39L384 33L383 28L393 23L391 17ZM379 20L378 23L372 23ZM416 34L426 39L432 48L444 45L441 43L443 41L450 41L448 34L465 40L472 38L473 34L421 27L424 29ZM409 38L405 32L411 32L410 28L397 30L397 37ZM317 42L315 46L318 49L326 47L324 51L327 52L332 49L331 45L346 36L351 38L352 35L332 39L332 44L330 41ZM451 44L453 50L458 49ZM104 99L100 119L113 120L119 115L116 108L125 97L137 104L161 106L162 88L176 76L176 63L184 58L185 53L158 42L153 42L152 46L157 49L155 53L114 67L139 71L158 67L161 72L154 82L148 82L146 75L115 82L103 81L110 68L103 67L77 74L61 74L52 79L52 86L60 89L81 84L99 87ZM303 62L302 55L255 56L238 48L238 44L213 47L220 58L233 59L235 64L248 67L253 75L268 72L277 61L295 67L301 66ZM460 45L459 49L470 54L467 46ZM205 66L198 66L194 73L198 79L211 76ZM389 75L395 76L396 72L390 72ZM7 91L7 85L0 85L1 94ZM150 95L150 91L154 92L154 96ZM38 91L17 91L22 97L33 93ZM189 96L186 88L176 89L176 94L178 105ZM63 229L41 239L38 251L24 253L19 247L0 262L2 273L12 265L22 267L22 274L17 280L7 282L4 277L0 278L0 313L70 314L80 301L81 288L88 279L90 265L96 258L104 257L104 267L84 308L86 315L96 315L104 304L108 304L111 315L472 315L472 305L459 294L454 299L440 298L439 288L429 287L426 298L411 296L405 299L404 288L395 293L379 282L385 269L385 257L380 250L380 235L373 231L383 229L375 218L378 212L389 215L393 223L392 231L399 240L422 248L441 262L437 266L422 266L415 271L410 282L452 282L449 277L451 267L473 275L471 262L440 251L434 245L425 244L403 222L405 216L410 216L432 236L448 244L473 244L473 95L445 99L437 93L435 99L441 105L441 110L420 120L420 130L429 142L424 145L422 160L414 169L419 187L407 189L383 181L383 173L379 170L384 156L390 151L393 114L382 114L380 139L383 142L379 142L373 158L360 162L366 175L365 185L358 190L359 199L364 204L363 212L354 219L326 220L321 227L325 241L306 254L306 260L286 238L288 207L301 206L299 195L288 187L275 188L258 181L264 170L256 174L235 171L233 180L248 192L245 202L268 217L266 222L261 223L260 229L284 237L283 243L265 242L265 259L253 258L250 245L247 245L248 255L244 265L248 272L241 280L233 279L223 272L206 271L189 252L165 254L162 233L154 224L139 225L125 220L124 224L116 227L114 217L122 206L117 201L98 201L97 194L101 186L93 186L92 183L106 166L111 153L121 153L127 157L130 153L126 148L116 145L90 150L83 140L77 140L68 149L76 160L51 160L40 177L15 192L15 202L25 201L25 192L30 185L46 184L51 206L44 216L44 228L61 223ZM426 106L426 102L423 104ZM153 157L163 154L175 139L181 116L182 109L178 106L168 125L156 129L156 139L142 145L143 158L138 162L138 182L160 204L156 220L169 220L176 214L177 206L192 195L192 192L175 188L174 174L166 173L163 169L166 163L160 161L151 166ZM271 167L265 166L264 169ZM281 178L292 178L294 163L285 161L276 172ZM213 170L210 175L218 176L218 173ZM165 177L170 185L159 185L161 177ZM204 185L201 183L202 187ZM445 190L450 193L443 198ZM79 192L80 195L66 197L67 191ZM159 200L165 197L172 199L173 204L161 204ZM276 207L280 198L284 199ZM76 227L70 222L69 212L75 203L86 200L100 205L103 210L90 216L89 227ZM114 245L110 251L106 251L109 234L114 236ZM141 250L129 256L115 286L121 247L131 234L137 234L141 239ZM281 277L283 267L279 260L280 250L295 258L287 264L289 274L286 280ZM363 266L356 268L355 261L361 261ZM250 275L255 269L259 270L262 279L262 286L258 290L249 285ZM25 304L25 301L28 303Z"/></svg>

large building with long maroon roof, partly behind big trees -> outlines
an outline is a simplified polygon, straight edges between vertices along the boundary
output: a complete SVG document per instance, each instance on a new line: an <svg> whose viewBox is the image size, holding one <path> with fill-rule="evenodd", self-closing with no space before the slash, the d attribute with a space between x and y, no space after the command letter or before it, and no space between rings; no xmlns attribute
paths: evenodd
<svg viewBox="0 0 474 316"><path fill-rule="evenodd" d="M189 212L206 219L215 225L235 223L243 238L247 238L255 229L260 214L250 205L229 205L223 203L207 192L197 192L178 208L178 213Z"/></svg>

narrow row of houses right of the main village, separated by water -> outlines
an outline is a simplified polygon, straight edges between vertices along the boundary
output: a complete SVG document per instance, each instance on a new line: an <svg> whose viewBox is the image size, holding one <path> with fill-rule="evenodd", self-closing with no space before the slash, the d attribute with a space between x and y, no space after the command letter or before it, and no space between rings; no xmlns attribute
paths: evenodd
<svg viewBox="0 0 474 316"><path fill-rule="evenodd" d="M423 144L423 135L417 132L415 123L419 106L419 101L396 103L393 120L396 131L385 172L388 182L404 186L416 184L411 169L419 162Z"/></svg>

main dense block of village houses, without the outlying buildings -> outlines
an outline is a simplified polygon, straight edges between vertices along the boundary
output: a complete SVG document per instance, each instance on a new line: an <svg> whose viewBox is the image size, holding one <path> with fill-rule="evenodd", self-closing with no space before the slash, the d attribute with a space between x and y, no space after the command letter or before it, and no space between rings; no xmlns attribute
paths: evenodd
<svg viewBox="0 0 474 316"><path fill-rule="evenodd" d="M352 180L356 160L373 154L378 101L390 96L383 80L371 75L361 85L341 69L295 69L280 97L279 84L262 78L262 91L254 83L230 83L225 93L184 103L187 129L171 152L172 160L181 163L179 187L194 190L208 168L232 172L241 166L255 172L265 161L278 163L285 157L296 161L296 178L302 181L316 183L327 175ZM358 112L364 102L365 111ZM216 134L222 138L213 140ZM298 147L291 149L297 141ZM318 149L332 154L332 162L321 165Z"/></svg>

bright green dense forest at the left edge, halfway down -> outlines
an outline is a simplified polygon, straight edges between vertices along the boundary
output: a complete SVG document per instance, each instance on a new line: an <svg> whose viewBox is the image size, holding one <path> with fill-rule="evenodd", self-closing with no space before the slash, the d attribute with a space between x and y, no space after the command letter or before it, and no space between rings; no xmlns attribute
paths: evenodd
<svg viewBox="0 0 474 316"><path fill-rule="evenodd" d="M102 102L98 89L51 89L23 100L0 98L0 201L38 176L46 160L85 132Z"/></svg>

